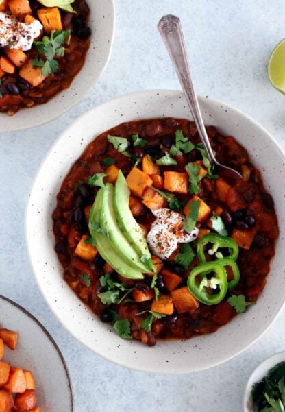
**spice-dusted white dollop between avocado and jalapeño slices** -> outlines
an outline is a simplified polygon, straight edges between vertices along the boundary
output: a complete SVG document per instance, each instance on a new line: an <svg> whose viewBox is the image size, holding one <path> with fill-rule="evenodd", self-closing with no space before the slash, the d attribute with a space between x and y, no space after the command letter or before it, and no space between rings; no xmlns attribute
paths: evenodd
<svg viewBox="0 0 285 412"><path fill-rule="evenodd" d="M194 241L199 229L194 228L191 233L183 229L183 219L179 212L170 209L153 210L156 220L147 234L147 243L153 254L166 259L177 249L178 243Z"/></svg>

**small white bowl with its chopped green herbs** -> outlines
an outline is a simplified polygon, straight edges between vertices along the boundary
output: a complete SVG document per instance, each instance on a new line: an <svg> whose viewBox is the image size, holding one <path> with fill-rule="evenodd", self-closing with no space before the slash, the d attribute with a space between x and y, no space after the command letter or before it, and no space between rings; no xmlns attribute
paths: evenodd
<svg viewBox="0 0 285 412"><path fill-rule="evenodd" d="M285 352L265 359L252 372L245 388L245 412L285 411Z"/></svg>

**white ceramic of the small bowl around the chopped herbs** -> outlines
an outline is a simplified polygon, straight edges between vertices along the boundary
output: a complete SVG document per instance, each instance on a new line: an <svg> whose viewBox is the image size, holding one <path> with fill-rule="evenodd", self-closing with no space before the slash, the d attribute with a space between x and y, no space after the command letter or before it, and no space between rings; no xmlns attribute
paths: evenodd
<svg viewBox="0 0 285 412"><path fill-rule="evenodd" d="M253 405L253 400L251 396L251 389L253 384L256 382L260 382L267 376L269 370L277 365L277 363L285 361L285 352L279 352L270 356L269 358L265 359L258 367L252 372L251 376L249 376L249 380L247 380L247 386L245 387L245 398L244 398L244 409L245 412L256 412L256 408Z"/></svg>

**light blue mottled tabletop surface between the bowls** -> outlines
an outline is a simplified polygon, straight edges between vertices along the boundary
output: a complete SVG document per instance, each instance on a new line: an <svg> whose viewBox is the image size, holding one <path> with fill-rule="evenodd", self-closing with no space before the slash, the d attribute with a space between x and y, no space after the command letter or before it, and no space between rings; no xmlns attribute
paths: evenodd
<svg viewBox="0 0 285 412"><path fill-rule="evenodd" d="M117 0L112 57L86 99L48 125L1 134L0 292L38 317L57 341L71 372L76 412L240 412L251 371L285 347L283 311L258 343L219 367L181 376L129 371L75 341L34 281L24 213L40 162L67 125L102 101L134 90L179 88L156 29L167 13L182 18L198 92L240 108L285 147L285 97L266 73L271 50L285 36L283 0Z"/></svg>

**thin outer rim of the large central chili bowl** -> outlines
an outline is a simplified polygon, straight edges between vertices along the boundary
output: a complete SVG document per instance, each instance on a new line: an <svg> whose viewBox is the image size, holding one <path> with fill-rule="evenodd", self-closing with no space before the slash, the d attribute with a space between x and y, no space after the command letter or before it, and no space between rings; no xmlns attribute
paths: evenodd
<svg viewBox="0 0 285 412"><path fill-rule="evenodd" d="M271 317L271 322L269 322L269 324L267 324L267 326L265 326L264 329L261 332L258 333L258 335L253 337L251 339L251 341L249 341L245 346L243 346L243 348L240 348L240 350L236 351L234 354L227 355L225 357L225 359L223 359L221 361L212 362L210 366L205 365L203 367L199 367L199 368L193 369L191 371L189 371L189 368L186 367L185 369L182 369L182 370L179 370L179 371L170 370L170 371L167 371L167 372L165 372L165 371L162 372L162 371L157 371L157 370L154 370L154 369L149 369L148 367L143 367L143 366L142 367L136 367L136 366L133 366L133 365L126 365L124 361L121 361L120 359L114 360L114 358L112 358L108 354L102 354L101 352L95 350L95 348L93 348L92 345L88 344L85 341L80 340L77 336L75 336L74 333L73 333L73 329L69 326L66 326L66 324L64 324L64 322L62 322L62 319L61 319L58 311L55 311L53 309L53 306L51 305L51 302L49 302L48 298L46 297L45 292L44 292L44 288L41 287L38 276L36 276L36 269L35 269L35 265L34 265L34 260L32 259L32 247L29 246L29 235L28 235L29 228L28 228L28 225L27 225L27 215L28 215L28 210L29 210L29 207L30 207L30 203L32 202L31 198L30 198L31 193L34 190L34 186L36 184L36 181L38 180L38 175L40 174L40 171L41 171L42 167L45 165L45 162L46 162L47 158L49 158L49 156L52 154L52 152L54 152L54 148L57 145L58 141L60 141L60 139L64 135L69 134L69 132L73 129L74 125L77 122L84 122L84 119L88 118L90 116L90 113L93 110L95 111L98 108L103 108L104 106L108 106L108 104L110 104L111 101L112 101L112 103L115 103L116 101L120 101L121 99L128 99L128 98L131 98L131 97L134 97L134 96L136 96L136 98L139 98L140 96L149 95L151 93L156 93L156 94L160 94L160 95L166 93L168 95L171 95L171 97L183 95L181 90L173 90L173 89L147 89L147 90L134 91L132 93L125 93L123 95L118 95L116 97L113 97L112 99L108 99L107 101L103 101L101 104L99 104L97 106L94 106L93 108L88 110L88 112L85 112L84 114L82 114L80 117L77 117L77 119L75 119L75 121L73 121L65 130L63 130L59 134L58 138L55 140L55 142L53 143L53 145L51 146L51 148L49 149L49 151L47 152L47 154L43 158L43 160L40 164L40 167L38 167L38 171L36 172L36 175L35 175L34 180L32 182L31 189L29 190L29 197L27 199L27 204L26 204L26 208L25 208L25 241L26 241L26 244L27 244L27 254L28 254L28 258L29 258L29 263L32 267L34 277L36 278L36 282L38 284L40 292L42 293L42 295L45 298L45 301L47 302L49 308L51 308L51 311L55 314L55 317L57 317L57 319L60 321L60 324L62 324L62 326L64 326L64 328L66 328L66 330L68 330L71 333L71 335L73 335L73 337L75 337L77 340L79 340L80 343L83 343L84 346L86 346L86 348L88 348L89 350L91 350L95 354L103 357L103 359L106 359L106 360L108 360L112 363L116 363L117 365L120 365L122 367L127 367L128 369L133 369L133 370L136 370L136 371L139 371L139 372L156 373L156 374L160 374L160 373L162 373L162 374L185 374L185 373L198 372L198 371L201 371L201 370L210 369L210 368L215 367L217 365L221 365L222 363L225 363L226 361L230 361L230 359L233 359L234 357L238 356L240 353L244 352L250 346L252 346L253 343L255 343L256 341L261 339L261 337L264 335L265 332L267 332L267 330L273 324L273 322L275 322L275 319L277 319L277 316L282 311L282 308L284 308L284 306L285 306L285 295L284 295L283 300L280 302L280 308L278 308L275 315L273 317ZM280 150L280 153L282 154L282 156L284 158L284 161L285 161L285 149L282 148L280 143L278 143L275 140L275 138L273 138L273 136L271 136L271 134L262 125L260 125L260 123L258 123L257 121L255 121L254 119L249 117L242 110L240 110L238 108L235 108L234 106L231 106L230 104L227 104L224 101L221 101L219 99L208 97L208 95L206 95L206 96L198 95L198 99L199 99L199 101L203 101L204 99L206 99L206 101L210 102L210 104L218 105L218 106L221 106L221 107L227 107L230 110L232 110L233 112L237 112L241 117L244 117L245 119L247 119L247 121L249 121L250 123L255 125L257 128L262 130L262 132L264 134L267 135L267 137L269 138L271 143L273 143L273 145L275 145L275 147L277 147ZM138 117L138 119L144 119L144 118L143 117ZM273 259L274 259L274 257L273 257Z"/></svg>

